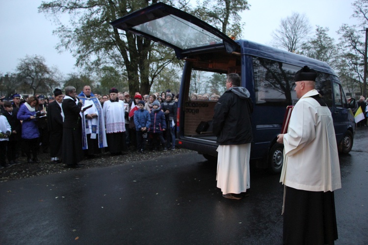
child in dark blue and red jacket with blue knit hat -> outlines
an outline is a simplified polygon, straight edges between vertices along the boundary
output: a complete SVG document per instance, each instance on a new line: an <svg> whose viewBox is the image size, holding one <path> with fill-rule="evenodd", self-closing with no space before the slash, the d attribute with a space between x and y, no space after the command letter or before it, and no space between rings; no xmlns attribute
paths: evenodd
<svg viewBox="0 0 368 245"><path fill-rule="evenodd" d="M167 147L165 145L165 140L162 136L162 131L165 131L166 128L166 122L165 122L165 115L161 111L160 103L158 100L155 100L152 103L152 111L151 111L151 125L150 125L150 138L153 140L153 150L156 151L159 147L159 142L161 142L161 145L164 147L164 151L167 150ZM157 139L159 142L157 142Z"/></svg>

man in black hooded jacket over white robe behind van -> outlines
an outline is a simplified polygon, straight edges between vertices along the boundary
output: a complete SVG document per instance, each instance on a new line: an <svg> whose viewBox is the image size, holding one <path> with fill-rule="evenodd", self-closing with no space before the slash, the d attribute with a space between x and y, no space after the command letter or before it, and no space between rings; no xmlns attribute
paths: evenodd
<svg viewBox="0 0 368 245"><path fill-rule="evenodd" d="M223 197L241 199L250 186L249 158L253 141L250 114L253 103L249 91L240 87L240 76L229 73L226 91L218 99L212 120L212 131L219 144L217 187Z"/></svg>

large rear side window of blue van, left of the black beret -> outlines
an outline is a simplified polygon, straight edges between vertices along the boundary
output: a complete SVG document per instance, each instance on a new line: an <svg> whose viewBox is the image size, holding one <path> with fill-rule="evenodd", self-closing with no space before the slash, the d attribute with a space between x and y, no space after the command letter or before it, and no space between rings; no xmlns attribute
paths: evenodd
<svg viewBox="0 0 368 245"><path fill-rule="evenodd" d="M294 74L300 70L278 61L253 57L255 100L258 105L288 106L295 104Z"/></svg>

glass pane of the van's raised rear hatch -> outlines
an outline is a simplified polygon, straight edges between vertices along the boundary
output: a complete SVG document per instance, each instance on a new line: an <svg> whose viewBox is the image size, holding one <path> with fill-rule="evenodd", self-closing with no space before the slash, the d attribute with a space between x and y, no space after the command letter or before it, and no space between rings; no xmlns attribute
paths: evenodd
<svg viewBox="0 0 368 245"><path fill-rule="evenodd" d="M132 29L157 37L180 49L222 43L221 38L174 15L136 25Z"/></svg>

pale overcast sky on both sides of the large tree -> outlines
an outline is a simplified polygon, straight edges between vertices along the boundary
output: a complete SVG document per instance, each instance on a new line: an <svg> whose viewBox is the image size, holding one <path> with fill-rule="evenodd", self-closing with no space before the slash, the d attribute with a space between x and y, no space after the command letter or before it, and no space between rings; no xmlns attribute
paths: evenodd
<svg viewBox="0 0 368 245"><path fill-rule="evenodd" d="M41 0L0 0L0 73L13 73L19 60L28 55L45 57L46 64L57 67L64 75L78 72L69 52L58 53L56 28L37 7ZM246 23L242 38L270 45L272 32L281 19L298 12L305 14L313 26L329 27L337 41L336 31L342 24L357 24L350 16L354 0L248 0L250 10L242 14Z"/></svg>

